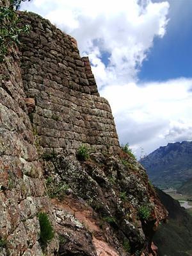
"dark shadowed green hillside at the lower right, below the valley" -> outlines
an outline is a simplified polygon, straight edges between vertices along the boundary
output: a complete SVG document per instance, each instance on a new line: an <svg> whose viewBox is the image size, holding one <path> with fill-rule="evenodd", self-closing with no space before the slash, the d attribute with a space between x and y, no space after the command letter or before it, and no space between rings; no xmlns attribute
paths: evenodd
<svg viewBox="0 0 192 256"><path fill-rule="evenodd" d="M154 243L158 246L159 256L191 256L192 255L192 217L179 201L173 200L160 189L157 194L168 210L168 221L157 229Z"/></svg>

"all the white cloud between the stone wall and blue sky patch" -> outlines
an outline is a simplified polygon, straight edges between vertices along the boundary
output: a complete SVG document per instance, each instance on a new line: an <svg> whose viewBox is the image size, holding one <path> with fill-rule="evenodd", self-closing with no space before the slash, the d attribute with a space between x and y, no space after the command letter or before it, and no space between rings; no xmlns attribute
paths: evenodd
<svg viewBox="0 0 192 256"><path fill-rule="evenodd" d="M192 80L139 83L137 74L168 23L167 1L33 0L22 3L77 39L100 94L109 99L120 142L140 155L191 138ZM108 60L104 60L108 53Z"/></svg>

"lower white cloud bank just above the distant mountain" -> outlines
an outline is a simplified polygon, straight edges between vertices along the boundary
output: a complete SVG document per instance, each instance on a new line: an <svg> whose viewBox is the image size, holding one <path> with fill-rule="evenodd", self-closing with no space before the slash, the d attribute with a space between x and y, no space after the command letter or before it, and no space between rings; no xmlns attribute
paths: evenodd
<svg viewBox="0 0 192 256"><path fill-rule="evenodd" d="M101 90L108 98L121 142L129 142L136 154L156 147L192 140L192 79L127 83Z"/></svg>

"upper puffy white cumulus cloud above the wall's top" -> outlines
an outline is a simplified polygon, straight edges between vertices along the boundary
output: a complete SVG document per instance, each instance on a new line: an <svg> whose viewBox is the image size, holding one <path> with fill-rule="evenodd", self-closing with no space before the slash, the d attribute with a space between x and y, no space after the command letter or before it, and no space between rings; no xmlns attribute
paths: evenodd
<svg viewBox="0 0 192 256"><path fill-rule="evenodd" d="M92 61L98 87L136 80L154 37L163 37L168 2L150 0L33 0L22 10L40 13L77 39ZM103 60L103 53L108 60Z"/></svg>

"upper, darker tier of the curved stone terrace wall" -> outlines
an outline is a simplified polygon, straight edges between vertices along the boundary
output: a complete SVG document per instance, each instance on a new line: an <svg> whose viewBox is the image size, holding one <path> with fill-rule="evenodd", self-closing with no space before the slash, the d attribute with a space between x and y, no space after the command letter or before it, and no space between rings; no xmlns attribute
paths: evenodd
<svg viewBox="0 0 192 256"><path fill-rule="evenodd" d="M31 92L34 83L43 84L47 78L72 90L99 96L89 59L81 58L76 40L35 13L19 13L32 28L28 37L22 37L20 48L26 89Z"/></svg>

